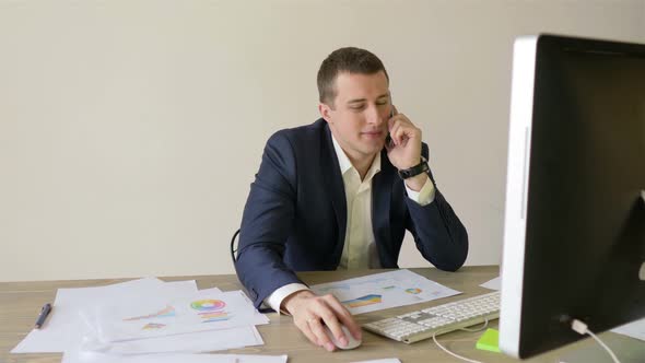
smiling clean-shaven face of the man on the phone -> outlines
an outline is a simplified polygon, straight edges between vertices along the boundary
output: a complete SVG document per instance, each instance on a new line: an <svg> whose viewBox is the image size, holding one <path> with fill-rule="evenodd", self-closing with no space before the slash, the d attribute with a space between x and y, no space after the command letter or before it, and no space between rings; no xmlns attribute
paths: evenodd
<svg viewBox="0 0 645 363"><path fill-rule="evenodd" d="M372 160L385 144L391 108L388 86L383 71L339 73L333 108L326 104L319 106L333 137L352 162Z"/></svg>

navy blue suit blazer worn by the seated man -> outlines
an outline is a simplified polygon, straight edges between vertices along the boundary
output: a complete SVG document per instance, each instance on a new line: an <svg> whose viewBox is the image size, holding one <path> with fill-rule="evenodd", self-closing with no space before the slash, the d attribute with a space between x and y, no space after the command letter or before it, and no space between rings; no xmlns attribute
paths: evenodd
<svg viewBox="0 0 645 363"><path fill-rule="evenodd" d="M427 145L422 149L427 159ZM385 150L380 163L372 179L380 265L398 268L408 230L427 261L442 270L459 269L468 255L468 234L438 188L434 201L421 207L406 196ZM327 122L318 119L271 136L244 209L235 264L256 307L277 289L302 283L294 271L335 270L345 227L344 185Z"/></svg>

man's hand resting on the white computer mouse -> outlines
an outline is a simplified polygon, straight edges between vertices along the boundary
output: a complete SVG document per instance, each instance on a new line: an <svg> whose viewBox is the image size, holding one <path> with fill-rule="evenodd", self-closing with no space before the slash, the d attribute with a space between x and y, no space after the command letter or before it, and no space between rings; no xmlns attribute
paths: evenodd
<svg viewBox="0 0 645 363"><path fill-rule="evenodd" d="M295 292L284 298L282 306L293 316L295 326L312 341L324 347L328 351L336 350L325 332L325 325L342 346L347 346L348 337L344 336L341 325L344 325L354 337L361 340L361 327L354 321L352 315L333 295L317 296L309 290Z"/></svg>

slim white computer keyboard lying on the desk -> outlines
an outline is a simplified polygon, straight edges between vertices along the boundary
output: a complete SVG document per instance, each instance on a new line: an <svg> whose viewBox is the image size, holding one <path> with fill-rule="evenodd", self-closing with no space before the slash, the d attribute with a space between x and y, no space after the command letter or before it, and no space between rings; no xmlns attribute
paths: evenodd
<svg viewBox="0 0 645 363"><path fill-rule="evenodd" d="M364 324L363 328L384 337L413 343L500 317L500 292Z"/></svg>

